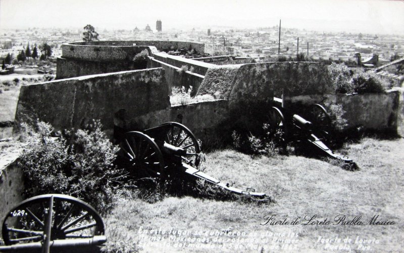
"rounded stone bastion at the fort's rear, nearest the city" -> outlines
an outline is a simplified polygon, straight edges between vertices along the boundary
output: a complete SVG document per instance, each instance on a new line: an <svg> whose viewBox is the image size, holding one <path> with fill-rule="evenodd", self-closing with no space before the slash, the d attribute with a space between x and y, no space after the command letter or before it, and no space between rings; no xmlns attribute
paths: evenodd
<svg viewBox="0 0 404 253"><path fill-rule="evenodd" d="M92 41L62 45L62 56L57 59L57 79L103 74L137 69L135 54L147 49L149 55L159 51L181 48L204 53L205 44L183 41ZM179 66L181 67L181 66ZM206 71L205 71L206 72Z"/></svg>

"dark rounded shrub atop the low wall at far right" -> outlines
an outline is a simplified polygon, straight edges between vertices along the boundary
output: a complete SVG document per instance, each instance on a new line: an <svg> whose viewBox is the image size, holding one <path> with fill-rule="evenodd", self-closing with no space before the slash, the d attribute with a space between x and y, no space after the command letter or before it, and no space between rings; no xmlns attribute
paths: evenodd
<svg viewBox="0 0 404 253"><path fill-rule="evenodd" d="M380 93L384 92L384 84L374 72L364 72L355 74L352 78L354 92L358 93Z"/></svg>

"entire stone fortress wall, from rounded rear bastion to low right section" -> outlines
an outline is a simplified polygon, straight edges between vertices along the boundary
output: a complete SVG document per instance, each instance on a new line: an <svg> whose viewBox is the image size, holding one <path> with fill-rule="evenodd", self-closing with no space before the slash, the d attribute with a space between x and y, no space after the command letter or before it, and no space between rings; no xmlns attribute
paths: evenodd
<svg viewBox="0 0 404 253"><path fill-rule="evenodd" d="M143 43L152 45L139 45ZM188 46L199 44L183 43ZM58 70L61 69L63 72L64 67L69 67L66 73L73 70L70 73L73 76L100 72L118 73L76 77L23 87L17 108L17 119L24 121L26 120L23 117L24 113L34 112L34 118L40 118L58 129L63 129L80 128L84 121L94 118L101 119L106 129L111 130L114 125L114 113L124 109L130 112L126 115L128 127L145 129L164 121L178 120L177 112L181 110L185 114L193 115L189 116L192 120L183 115L183 122L187 122L196 133L204 134L200 137L201 139L212 141L216 138L214 138L216 130L223 128L224 125L229 131L234 123L250 128L255 124L257 115L265 114L263 113L265 109L272 106L274 96L280 97L284 94L293 99L301 95L316 95L319 97L316 103L324 101L327 96L335 96L334 91L327 85L330 80L324 66L316 62L267 62L218 66L158 52L167 48L168 45L182 46L179 42L170 44L168 41L153 43L150 41L97 41L64 44L62 61L60 61L63 64L62 68L59 68L58 61ZM144 49L149 51L147 68L156 69L120 72L131 68L127 62L133 62L131 59L133 54ZM102 53L103 50L111 54ZM67 57L63 59L66 55ZM189 69L192 67L193 71L180 71L184 65ZM158 78L154 77L156 73ZM145 81L150 77L153 77L153 82ZM194 94L210 94L216 99L225 99L225 101L185 106L189 109L172 107L168 101L171 88L190 85L193 87ZM345 108L349 111L347 116L352 121L351 127L364 125L365 129L369 127L375 130L393 130L397 125L395 118L398 97L396 95L396 92L374 95L383 96L380 99L373 95L357 95L339 100L342 104L346 104ZM371 103L372 107L369 107L369 101L374 101ZM356 109L365 107L369 110ZM198 111L194 112L191 108L197 108ZM208 113L205 108L214 113ZM378 113L374 113L375 110ZM217 113L219 111L223 113ZM231 119L229 115L233 115L234 119ZM374 117L378 119L373 119ZM216 123L203 127L201 120L220 122L220 127ZM370 124L369 122L379 123Z"/></svg>

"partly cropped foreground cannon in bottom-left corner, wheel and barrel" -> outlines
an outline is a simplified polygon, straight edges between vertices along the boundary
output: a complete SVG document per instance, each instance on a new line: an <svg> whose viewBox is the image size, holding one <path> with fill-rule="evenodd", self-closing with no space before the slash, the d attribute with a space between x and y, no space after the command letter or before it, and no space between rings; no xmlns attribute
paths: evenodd
<svg viewBox="0 0 404 253"><path fill-rule="evenodd" d="M19 203L3 219L0 252L90 252L107 241L104 222L90 205L61 194ZM74 247L74 249L73 249Z"/></svg>

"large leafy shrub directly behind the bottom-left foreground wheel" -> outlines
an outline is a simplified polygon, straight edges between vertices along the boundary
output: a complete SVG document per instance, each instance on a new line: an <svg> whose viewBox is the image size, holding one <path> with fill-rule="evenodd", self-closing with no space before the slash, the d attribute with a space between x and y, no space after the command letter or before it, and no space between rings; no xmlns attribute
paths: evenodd
<svg viewBox="0 0 404 253"><path fill-rule="evenodd" d="M113 165L118 148L101 131L99 121L86 130L63 134L44 122L38 122L35 130L24 127L28 144L20 165L26 197L66 194L101 213L112 207L115 185L123 173Z"/></svg>

